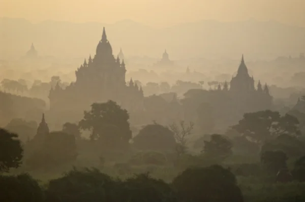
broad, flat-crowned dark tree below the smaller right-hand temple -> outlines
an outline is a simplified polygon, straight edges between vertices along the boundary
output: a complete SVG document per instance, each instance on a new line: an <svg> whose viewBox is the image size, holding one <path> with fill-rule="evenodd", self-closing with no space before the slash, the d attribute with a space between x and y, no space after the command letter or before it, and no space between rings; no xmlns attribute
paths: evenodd
<svg viewBox="0 0 305 202"><path fill-rule="evenodd" d="M246 113L237 125L232 126L242 136L261 144L272 137L280 134L298 136L298 120L289 114L281 116L279 112L270 110Z"/></svg>

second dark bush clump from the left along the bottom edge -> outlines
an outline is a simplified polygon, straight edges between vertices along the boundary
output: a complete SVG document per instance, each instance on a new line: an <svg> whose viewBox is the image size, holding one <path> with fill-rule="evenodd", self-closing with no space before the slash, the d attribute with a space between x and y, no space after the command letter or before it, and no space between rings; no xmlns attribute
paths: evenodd
<svg viewBox="0 0 305 202"><path fill-rule="evenodd" d="M116 201L115 182L96 169L68 172L51 180L46 190L47 202Z"/></svg>

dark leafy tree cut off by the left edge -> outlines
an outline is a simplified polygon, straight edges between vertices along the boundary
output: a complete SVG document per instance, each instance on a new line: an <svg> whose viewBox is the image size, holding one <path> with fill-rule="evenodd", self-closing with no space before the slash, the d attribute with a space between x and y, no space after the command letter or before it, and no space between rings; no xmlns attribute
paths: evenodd
<svg viewBox="0 0 305 202"><path fill-rule="evenodd" d="M15 133L0 128L0 172L9 172L21 164L23 149Z"/></svg>

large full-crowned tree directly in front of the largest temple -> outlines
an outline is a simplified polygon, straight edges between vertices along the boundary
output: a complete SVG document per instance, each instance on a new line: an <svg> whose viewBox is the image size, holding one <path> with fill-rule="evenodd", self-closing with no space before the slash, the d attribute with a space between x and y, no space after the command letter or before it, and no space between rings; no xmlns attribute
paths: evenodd
<svg viewBox="0 0 305 202"><path fill-rule="evenodd" d="M79 122L82 129L92 130L91 139L99 139L105 147L126 147L132 138L129 114L114 101L94 103Z"/></svg>

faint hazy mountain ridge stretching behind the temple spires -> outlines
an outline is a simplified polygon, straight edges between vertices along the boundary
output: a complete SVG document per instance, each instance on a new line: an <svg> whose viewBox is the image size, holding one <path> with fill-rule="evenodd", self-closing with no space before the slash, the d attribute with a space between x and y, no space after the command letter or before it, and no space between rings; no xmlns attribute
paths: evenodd
<svg viewBox="0 0 305 202"><path fill-rule="evenodd" d="M305 27L276 21L219 22L204 20L154 28L132 20L113 24L72 23L0 18L0 59L18 58L33 42L40 55L88 57L95 54L102 28L106 27L114 54L161 57L167 49L171 59L191 57L272 59L305 52Z"/></svg>

